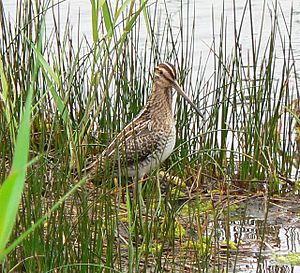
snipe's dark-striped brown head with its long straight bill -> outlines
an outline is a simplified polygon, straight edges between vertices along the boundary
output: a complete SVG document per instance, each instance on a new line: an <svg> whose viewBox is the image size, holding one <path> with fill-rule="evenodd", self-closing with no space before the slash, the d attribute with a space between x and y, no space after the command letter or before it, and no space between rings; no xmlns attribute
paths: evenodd
<svg viewBox="0 0 300 273"><path fill-rule="evenodd" d="M198 107L192 102L187 94L182 90L176 80L176 69L175 66L170 63L159 64L154 69L154 83L159 88L174 88L195 110L202 116Z"/></svg>

